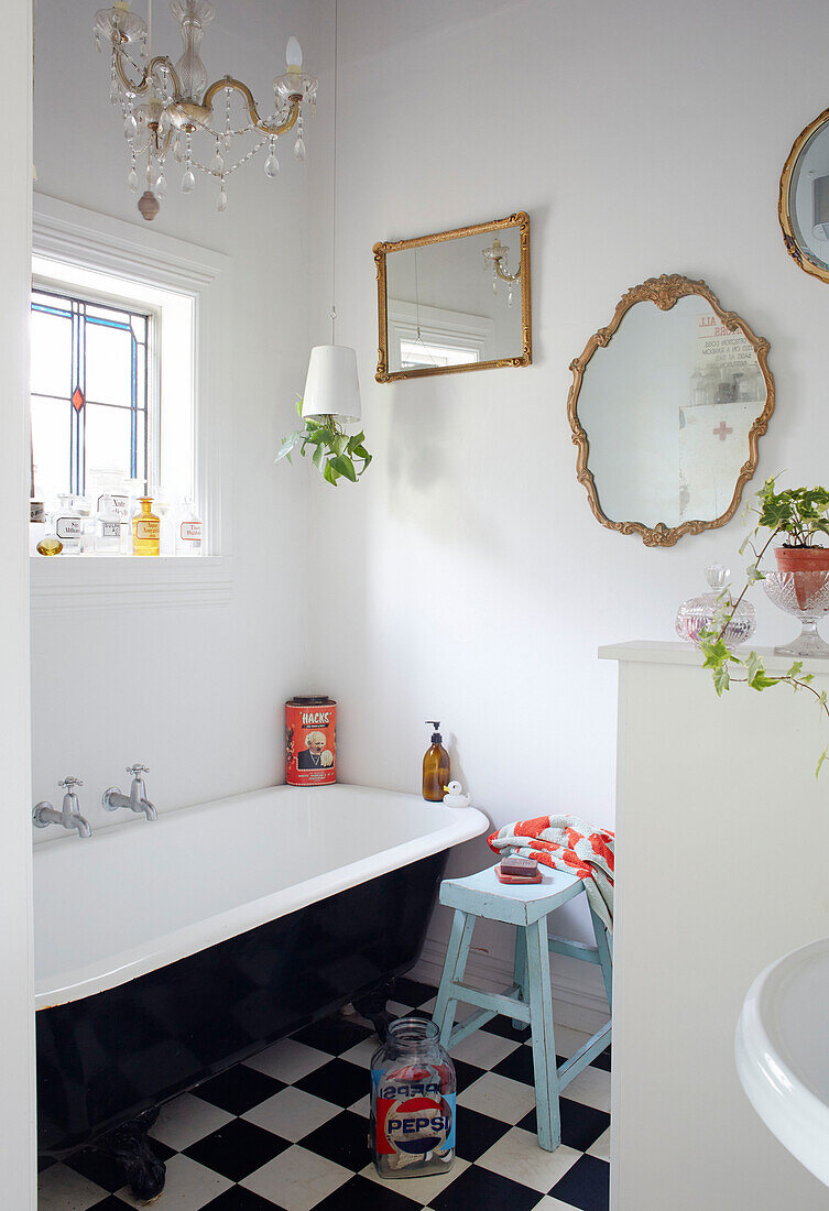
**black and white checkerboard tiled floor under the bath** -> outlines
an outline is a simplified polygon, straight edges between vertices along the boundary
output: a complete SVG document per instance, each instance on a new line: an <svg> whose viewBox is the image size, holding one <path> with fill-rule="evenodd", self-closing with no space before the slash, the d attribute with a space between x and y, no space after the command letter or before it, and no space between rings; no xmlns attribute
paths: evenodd
<svg viewBox="0 0 829 1211"><path fill-rule="evenodd" d="M398 981L392 1012L430 1012L434 989ZM532 1056L503 1017L461 1043L457 1150L451 1171L382 1182L367 1147L375 1035L335 1015L184 1094L151 1135L167 1161L157 1211L606 1211L610 1058L599 1056L562 1100L563 1142L535 1137ZM583 1035L559 1027L571 1055ZM39 1211L126 1211L144 1204L94 1153L40 1175Z"/></svg>

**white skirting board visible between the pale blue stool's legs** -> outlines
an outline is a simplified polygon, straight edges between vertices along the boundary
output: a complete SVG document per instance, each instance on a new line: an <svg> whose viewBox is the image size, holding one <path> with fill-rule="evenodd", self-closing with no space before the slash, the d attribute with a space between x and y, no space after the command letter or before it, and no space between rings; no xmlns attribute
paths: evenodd
<svg viewBox="0 0 829 1211"><path fill-rule="evenodd" d="M408 972L409 978L437 986L441 982L445 953L444 942L427 937L418 963ZM598 966L553 954L551 976L553 1017L559 1026L569 1026L587 1034L600 1029L608 1021L609 1011ZM464 980L473 987L496 992L512 983L512 962L473 946Z"/></svg>

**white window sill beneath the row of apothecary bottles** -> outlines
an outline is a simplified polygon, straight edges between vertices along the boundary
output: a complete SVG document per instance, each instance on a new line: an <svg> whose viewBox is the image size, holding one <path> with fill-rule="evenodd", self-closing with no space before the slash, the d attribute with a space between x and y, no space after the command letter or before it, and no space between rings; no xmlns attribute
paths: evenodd
<svg viewBox="0 0 829 1211"><path fill-rule="evenodd" d="M232 592L225 556L70 555L30 559L36 612L139 606L226 606Z"/></svg>

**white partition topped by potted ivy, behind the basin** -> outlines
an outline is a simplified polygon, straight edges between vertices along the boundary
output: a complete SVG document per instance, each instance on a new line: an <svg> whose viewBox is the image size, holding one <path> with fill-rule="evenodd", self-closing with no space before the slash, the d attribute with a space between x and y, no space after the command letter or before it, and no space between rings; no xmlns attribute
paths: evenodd
<svg viewBox="0 0 829 1211"><path fill-rule="evenodd" d="M825 719L784 685L718 699L685 644L600 653L620 661L611 1206L825 1211L733 1056L754 976L829 934Z"/></svg>

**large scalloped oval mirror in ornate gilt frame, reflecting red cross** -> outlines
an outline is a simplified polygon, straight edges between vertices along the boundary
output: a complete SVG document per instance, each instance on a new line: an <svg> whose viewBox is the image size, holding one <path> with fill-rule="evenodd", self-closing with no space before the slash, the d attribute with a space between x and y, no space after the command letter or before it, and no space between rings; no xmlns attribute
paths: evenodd
<svg viewBox="0 0 829 1211"><path fill-rule="evenodd" d="M570 363L578 482L603 526L673 546L733 517L775 408L767 352L702 281L622 297Z"/></svg>

